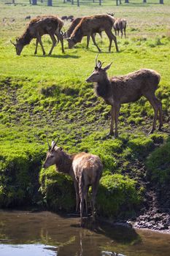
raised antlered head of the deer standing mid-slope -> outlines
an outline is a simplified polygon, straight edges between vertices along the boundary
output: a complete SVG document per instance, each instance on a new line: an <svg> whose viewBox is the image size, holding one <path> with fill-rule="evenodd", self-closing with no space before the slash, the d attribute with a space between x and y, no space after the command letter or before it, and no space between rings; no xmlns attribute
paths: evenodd
<svg viewBox="0 0 170 256"><path fill-rule="evenodd" d="M101 63L101 61L98 61L97 57L98 55L96 56L96 66L92 74L86 79L86 82L88 83L93 83L93 82L98 83L99 81L104 80L107 77L107 69L109 69L112 65L112 62L111 62L106 67L102 68L102 65L104 64L104 62Z"/></svg>

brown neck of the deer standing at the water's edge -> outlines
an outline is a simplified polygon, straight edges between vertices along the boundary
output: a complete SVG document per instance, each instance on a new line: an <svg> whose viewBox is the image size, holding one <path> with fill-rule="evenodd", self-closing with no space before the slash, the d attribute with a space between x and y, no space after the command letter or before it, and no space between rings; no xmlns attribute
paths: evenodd
<svg viewBox="0 0 170 256"><path fill-rule="evenodd" d="M72 156L61 151L60 159L55 163L59 173L67 173L70 175L72 169Z"/></svg>

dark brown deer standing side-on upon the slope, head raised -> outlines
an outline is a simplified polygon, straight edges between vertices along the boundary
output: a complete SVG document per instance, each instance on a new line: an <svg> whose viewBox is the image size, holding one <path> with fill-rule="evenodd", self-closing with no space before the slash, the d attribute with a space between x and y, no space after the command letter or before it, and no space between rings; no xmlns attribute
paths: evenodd
<svg viewBox="0 0 170 256"><path fill-rule="evenodd" d="M97 60L97 57L98 56L96 56L96 66L92 74L86 79L86 82L96 83L94 88L98 97L102 97L107 105L112 106L109 135L114 135L113 124L115 121L115 138L118 137L117 122L120 113L120 105L136 102L142 96L150 102L150 105L152 105L154 110L154 118L150 133L155 131L157 118L159 119L158 129L162 130L162 104L155 96L155 91L158 89L161 75L152 69L139 69L128 75L109 78L107 70L111 67L112 62L106 67L102 67L104 62L101 63L101 61Z"/></svg>

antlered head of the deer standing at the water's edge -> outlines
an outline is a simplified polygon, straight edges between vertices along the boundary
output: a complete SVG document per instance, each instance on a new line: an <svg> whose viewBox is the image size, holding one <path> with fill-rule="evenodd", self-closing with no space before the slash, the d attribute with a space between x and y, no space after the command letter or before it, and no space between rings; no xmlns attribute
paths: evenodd
<svg viewBox="0 0 170 256"><path fill-rule="evenodd" d="M59 137L58 137L58 139L59 139ZM62 148L56 146L57 143L58 143L58 140L56 142L53 140L51 143L51 147L50 147L50 144L47 142L49 150L47 151L47 157L45 159L45 162L42 165L42 167L44 167L45 169L47 167L50 167L51 165L55 165L56 163L60 162L60 160L61 160Z"/></svg>

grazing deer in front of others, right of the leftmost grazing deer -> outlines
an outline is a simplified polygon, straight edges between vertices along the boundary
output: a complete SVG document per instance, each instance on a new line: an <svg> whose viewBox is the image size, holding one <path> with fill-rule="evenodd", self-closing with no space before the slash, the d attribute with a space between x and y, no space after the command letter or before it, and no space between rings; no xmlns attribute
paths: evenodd
<svg viewBox="0 0 170 256"><path fill-rule="evenodd" d="M72 34L69 38L67 38L67 41L69 43L69 49L73 48L74 45L77 44L77 42L82 41L82 37L87 36L87 48L89 45L90 37L93 40L94 45L96 45L96 48L100 52L101 49L96 44L95 35L96 33L101 33L101 31L105 31L107 34L107 37L109 38L109 52L112 47L112 40L115 42L115 48L117 52L119 51L117 46L117 39L114 34L112 34L112 27L115 22L115 18L113 18L111 15L92 15L92 16L85 16L80 20L80 23L75 27L74 31L72 31Z"/></svg>

